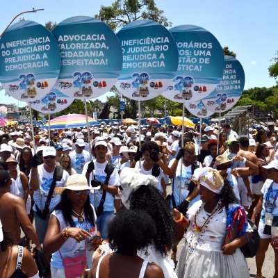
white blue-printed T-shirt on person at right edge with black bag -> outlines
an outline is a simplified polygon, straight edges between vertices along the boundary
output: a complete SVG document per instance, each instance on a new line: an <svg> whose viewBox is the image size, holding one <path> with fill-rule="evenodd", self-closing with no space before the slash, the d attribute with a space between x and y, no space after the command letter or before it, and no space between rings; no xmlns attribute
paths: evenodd
<svg viewBox="0 0 278 278"><path fill-rule="evenodd" d="M270 191L268 204L266 204L266 209L265 209L265 202L266 202L266 197L268 195L268 188L270 188L271 184L272 184L272 190ZM275 202L275 195L278 194L278 183L275 183L271 179L267 179L265 183L263 183L263 188L261 188L261 193L263 194L263 210L261 212L261 221L265 222L265 218L264 218L265 212L272 213L272 215L274 216L278 216L278 200L277 200L278 196ZM274 202L275 202L275 206L273 211L271 212L272 204L274 204Z"/></svg>

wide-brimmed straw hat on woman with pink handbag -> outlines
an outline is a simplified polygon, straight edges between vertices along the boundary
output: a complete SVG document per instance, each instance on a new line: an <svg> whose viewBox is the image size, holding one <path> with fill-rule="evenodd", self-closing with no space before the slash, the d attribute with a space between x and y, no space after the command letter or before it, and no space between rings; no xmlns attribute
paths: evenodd
<svg viewBox="0 0 278 278"><path fill-rule="evenodd" d="M100 186L92 188L88 186L88 181L83 174L72 174L72 176L67 178L67 183L65 183L64 187L56 187L55 193L62 194L65 189L69 190L96 190L99 189Z"/></svg>

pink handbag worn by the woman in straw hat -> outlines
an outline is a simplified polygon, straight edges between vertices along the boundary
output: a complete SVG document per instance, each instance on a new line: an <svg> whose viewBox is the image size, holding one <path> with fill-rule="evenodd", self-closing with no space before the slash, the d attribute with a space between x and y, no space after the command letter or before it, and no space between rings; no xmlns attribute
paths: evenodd
<svg viewBox="0 0 278 278"><path fill-rule="evenodd" d="M86 247L85 247L86 250ZM59 250L60 253L60 250ZM85 251L86 254L86 251ZM63 260L63 265L65 267L65 277L66 278L76 278L83 277L85 269L87 268L86 256L81 254L74 258L63 259L62 254L60 256Z"/></svg>

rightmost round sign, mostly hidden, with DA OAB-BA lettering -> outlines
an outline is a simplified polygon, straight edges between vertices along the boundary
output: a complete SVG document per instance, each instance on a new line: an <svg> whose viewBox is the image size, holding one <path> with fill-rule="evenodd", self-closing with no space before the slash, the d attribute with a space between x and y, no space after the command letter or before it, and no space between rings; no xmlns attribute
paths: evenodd
<svg viewBox="0 0 278 278"><path fill-rule="evenodd" d="M225 56L225 67L220 84L204 99L205 106L222 113L232 108L240 99L245 84L243 66L232 56Z"/></svg>

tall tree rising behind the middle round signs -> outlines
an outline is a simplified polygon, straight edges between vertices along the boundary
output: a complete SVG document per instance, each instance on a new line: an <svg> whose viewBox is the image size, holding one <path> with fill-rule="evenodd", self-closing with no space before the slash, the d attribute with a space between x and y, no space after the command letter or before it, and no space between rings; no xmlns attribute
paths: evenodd
<svg viewBox="0 0 278 278"><path fill-rule="evenodd" d="M172 26L163 14L154 0L116 0L111 6L101 6L95 17L105 22L113 31L137 19L150 19L165 27ZM135 118L136 112L136 101L131 100L131 117Z"/></svg>

